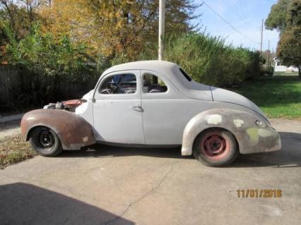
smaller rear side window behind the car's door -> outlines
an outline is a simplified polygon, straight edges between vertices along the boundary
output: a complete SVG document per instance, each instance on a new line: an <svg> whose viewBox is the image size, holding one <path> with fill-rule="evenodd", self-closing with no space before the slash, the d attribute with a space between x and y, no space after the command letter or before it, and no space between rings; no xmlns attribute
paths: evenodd
<svg viewBox="0 0 301 225"><path fill-rule="evenodd" d="M151 73L143 74L143 92L145 93L160 93L167 92L167 86L156 75Z"/></svg>

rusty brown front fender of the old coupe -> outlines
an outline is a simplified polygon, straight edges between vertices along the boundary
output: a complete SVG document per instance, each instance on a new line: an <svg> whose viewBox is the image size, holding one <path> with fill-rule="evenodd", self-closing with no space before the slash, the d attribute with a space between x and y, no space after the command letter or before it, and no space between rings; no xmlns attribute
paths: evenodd
<svg viewBox="0 0 301 225"><path fill-rule="evenodd" d="M90 123L70 111L61 109L29 111L21 121L23 138L29 140L30 131L37 126L46 126L54 130L64 150L80 150L81 147L95 143Z"/></svg>

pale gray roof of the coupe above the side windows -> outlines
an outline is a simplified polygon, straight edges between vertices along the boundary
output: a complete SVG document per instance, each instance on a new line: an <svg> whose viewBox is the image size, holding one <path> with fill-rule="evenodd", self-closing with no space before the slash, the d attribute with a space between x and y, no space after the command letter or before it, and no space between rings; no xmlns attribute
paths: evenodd
<svg viewBox="0 0 301 225"><path fill-rule="evenodd" d="M172 68L177 66L176 63L171 63L169 61L158 61L158 60L148 60L148 61L134 61L131 63L122 63L116 66L108 68L102 75L107 73L112 73L115 71L126 71L126 70L148 70L148 71L160 71L165 73L171 71ZM178 67L178 66L177 66Z"/></svg>

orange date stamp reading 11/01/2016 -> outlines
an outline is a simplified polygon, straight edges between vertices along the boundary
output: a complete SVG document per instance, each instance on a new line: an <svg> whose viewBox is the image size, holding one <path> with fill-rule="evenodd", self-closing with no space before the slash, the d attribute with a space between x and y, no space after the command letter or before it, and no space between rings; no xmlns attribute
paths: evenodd
<svg viewBox="0 0 301 225"><path fill-rule="evenodd" d="M282 197L281 189L238 189L237 197Z"/></svg>

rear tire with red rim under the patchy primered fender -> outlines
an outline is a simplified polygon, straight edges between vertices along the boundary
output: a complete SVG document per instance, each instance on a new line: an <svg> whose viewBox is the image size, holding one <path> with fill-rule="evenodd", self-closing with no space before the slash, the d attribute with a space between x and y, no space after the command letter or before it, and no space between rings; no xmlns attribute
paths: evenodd
<svg viewBox="0 0 301 225"><path fill-rule="evenodd" d="M194 157L206 166L228 166L238 152L235 137L221 128L210 128L200 133L192 150Z"/></svg>

